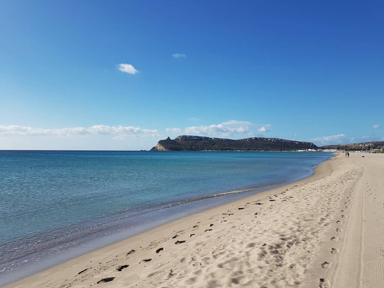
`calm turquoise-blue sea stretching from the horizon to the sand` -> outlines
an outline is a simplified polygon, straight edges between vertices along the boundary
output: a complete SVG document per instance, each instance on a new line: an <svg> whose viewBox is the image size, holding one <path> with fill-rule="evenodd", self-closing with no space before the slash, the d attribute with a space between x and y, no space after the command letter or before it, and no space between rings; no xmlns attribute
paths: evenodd
<svg viewBox="0 0 384 288"><path fill-rule="evenodd" d="M106 235L302 179L332 156L0 151L0 278L35 271L74 247L97 248Z"/></svg>

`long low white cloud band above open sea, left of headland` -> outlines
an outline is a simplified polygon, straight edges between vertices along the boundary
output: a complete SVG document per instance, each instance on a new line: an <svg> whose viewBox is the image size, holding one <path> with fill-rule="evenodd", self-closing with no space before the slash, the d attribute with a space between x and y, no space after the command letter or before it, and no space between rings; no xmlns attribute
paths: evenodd
<svg viewBox="0 0 384 288"><path fill-rule="evenodd" d="M116 135L114 139L122 139L127 136L141 137L159 137L160 133L157 130L142 129L134 126L106 126L94 125L88 128L85 127L68 127L68 128L33 128L29 126L0 125L0 136L70 136L70 135Z"/></svg>

